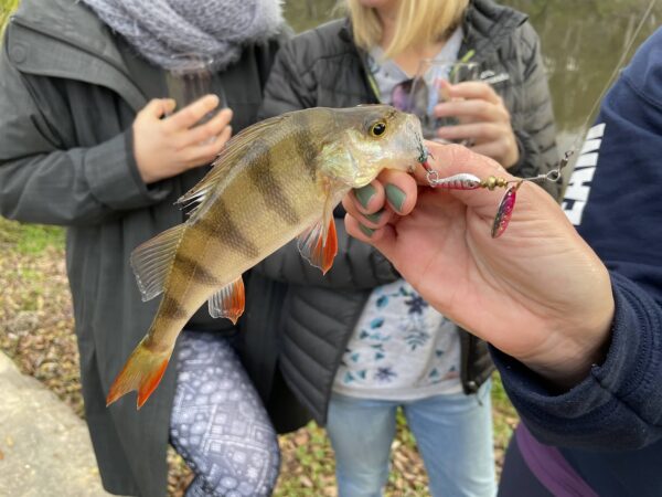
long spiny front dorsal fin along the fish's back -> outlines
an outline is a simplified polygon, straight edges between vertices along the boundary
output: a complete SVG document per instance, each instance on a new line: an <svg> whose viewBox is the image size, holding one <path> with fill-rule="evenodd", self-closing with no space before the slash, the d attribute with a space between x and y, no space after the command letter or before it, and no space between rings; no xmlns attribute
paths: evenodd
<svg viewBox="0 0 662 497"><path fill-rule="evenodd" d="M239 158L244 157L248 147L263 134L275 133L277 127L287 118L287 114L276 116L242 129L227 142L216 160L214 160L212 170L195 187L184 193L177 203L184 207L196 203L197 207L189 213L189 215L193 216L207 198L210 191L221 188L223 180L228 178L233 166L236 165Z"/></svg>

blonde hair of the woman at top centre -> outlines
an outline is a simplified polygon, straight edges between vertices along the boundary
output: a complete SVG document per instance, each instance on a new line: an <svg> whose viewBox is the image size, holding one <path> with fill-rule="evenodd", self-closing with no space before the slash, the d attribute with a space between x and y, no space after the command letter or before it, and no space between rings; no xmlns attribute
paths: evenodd
<svg viewBox="0 0 662 497"><path fill-rule="evenodd" d="M399 0L395 35L384 56L393 57L410 46L439 41L460 24L468 4L469 0ZM356 45L370 50L380 44L382 21L377 11L362 6L361 0L345 0L345 10L352 20Z"/></svg>

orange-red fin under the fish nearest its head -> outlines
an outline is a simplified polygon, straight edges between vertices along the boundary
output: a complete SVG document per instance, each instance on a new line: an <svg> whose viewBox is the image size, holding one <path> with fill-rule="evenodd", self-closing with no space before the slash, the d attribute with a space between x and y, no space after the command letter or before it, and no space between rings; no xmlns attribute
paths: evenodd
<svg viewBox="0 0 662 497"><path fill-rule="evenodd" d="M322 216L301 233L297 241L301 255L310 264L322 269L322 274L327 274L331 268L333 258L338 253L338 234L335 232L335 221L333 220L333 197L331 187L328 187Z"/></svg>

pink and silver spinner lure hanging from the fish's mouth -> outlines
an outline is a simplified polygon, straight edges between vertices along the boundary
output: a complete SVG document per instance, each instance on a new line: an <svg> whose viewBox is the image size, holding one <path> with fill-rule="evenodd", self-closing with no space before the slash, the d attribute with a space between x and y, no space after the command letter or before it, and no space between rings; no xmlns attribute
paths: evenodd
<svg viewBox="0 0 662 497"><path fill-rule="evenodd" d="M514 180L506 180L505 178L499 178L495 176L489 176L488 178L481 180L477 176L468 172L460 172L459 175L441 178L439 177L439 172L430 167L427 158L421 157L424 160L420 160L420 163L427 171L427 181L431 188L440 188L444 190L478 190L482 188L490 191L493 191L496 188L505 188L505 193L503 194L501 202L499 202L499 208L496 209L496 214L494 215L494 222L492 223L492 237L496 239L503 234L510 223L510 220L513 215L513 210L515 209L517 190L522 183L524 181L558 181L563 168L568 165L573 154L574 150L566 151L564 158L558 162L556 169L551 170L546 175L538 175L533 178L517 178Z"/></svg>

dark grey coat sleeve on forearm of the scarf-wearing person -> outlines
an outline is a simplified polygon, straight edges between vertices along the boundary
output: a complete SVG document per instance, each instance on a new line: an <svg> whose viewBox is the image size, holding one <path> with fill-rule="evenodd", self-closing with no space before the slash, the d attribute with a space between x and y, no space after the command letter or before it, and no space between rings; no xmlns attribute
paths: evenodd
<svg viewBox="0 0 662 497"><path fill-rule="evenodd" d="M161 201L167 183L138 175L130 131L92 148L0 159L0 213L46 224L84 225Z"/></svg>

